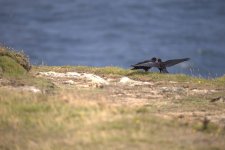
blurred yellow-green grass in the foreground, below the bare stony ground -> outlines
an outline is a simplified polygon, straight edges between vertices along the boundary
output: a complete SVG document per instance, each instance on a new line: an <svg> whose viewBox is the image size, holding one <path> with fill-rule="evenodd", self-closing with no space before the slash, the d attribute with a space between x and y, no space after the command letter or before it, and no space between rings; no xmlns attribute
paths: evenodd
<svg viewBox="0 0 225 150"><path fill-rule="evenodd" d="M201 122L160 118L151 110L154 107L113 106L95 94L86 97L86 92L35 95L0 89L0 148L210 150L225 146L224 131L214 124L206 130ZM196 105L192 101L182 105L187 104Z"/></svg>

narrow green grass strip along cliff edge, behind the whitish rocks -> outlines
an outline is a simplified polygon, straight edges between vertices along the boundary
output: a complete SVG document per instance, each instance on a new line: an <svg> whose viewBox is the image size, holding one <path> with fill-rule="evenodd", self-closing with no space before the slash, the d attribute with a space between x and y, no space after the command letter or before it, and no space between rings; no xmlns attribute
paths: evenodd
<svg viewBox="0 0 225 150"><path fill-rule="evenodd" d="M33 66L32 73L39 71L56 71L56 72L85 72L93 73L102 77L119 78L127 76L131 79L141 81L163 81L178 82L194 85L196 87L224 87L224 77L216 79L205 79L200 77L192 77L184 74L160 74L155 72L133 71L119 67L90 67L90 66Z"/></svg>

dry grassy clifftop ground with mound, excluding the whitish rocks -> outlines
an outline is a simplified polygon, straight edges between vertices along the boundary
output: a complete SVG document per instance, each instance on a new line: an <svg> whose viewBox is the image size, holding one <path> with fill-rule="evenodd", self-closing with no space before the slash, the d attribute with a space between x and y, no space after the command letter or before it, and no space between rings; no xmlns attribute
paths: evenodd
<svg viewBox="0 0 225 150"><path fill-rule="evenodd" d="M118 67L30 69L25 55L0 47L0 150L225 147L225 76L209 80ZM81 82L61 82L67 78L38 76L44 71L93 73L112 82L81 88ZM118 84L123 76L150 84Z"/></svg>

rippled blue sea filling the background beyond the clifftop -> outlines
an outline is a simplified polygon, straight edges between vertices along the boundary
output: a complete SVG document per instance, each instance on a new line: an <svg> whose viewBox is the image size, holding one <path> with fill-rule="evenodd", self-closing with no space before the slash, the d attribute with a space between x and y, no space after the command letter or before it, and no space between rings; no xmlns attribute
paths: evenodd
<svg viewBox="0 0 225 150"><path fill-rule="evenodd" d="M36 65L129 68L190 57L168 70L217 77L225 74L225 0L0 0L0 43Z"/></svg>

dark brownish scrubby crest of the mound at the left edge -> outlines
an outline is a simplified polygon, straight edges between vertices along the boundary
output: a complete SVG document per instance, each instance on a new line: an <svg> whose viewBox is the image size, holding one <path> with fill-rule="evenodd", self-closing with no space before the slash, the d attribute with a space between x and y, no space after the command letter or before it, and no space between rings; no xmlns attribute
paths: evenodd
<svg viewBox="0 0 225 150"><path fill-rule="evenodd" d="M16 52L11 48L0 46L0 57L2 56L10 57L27 71L30 71L31 69L29 58L23 52Z"/></svg>

